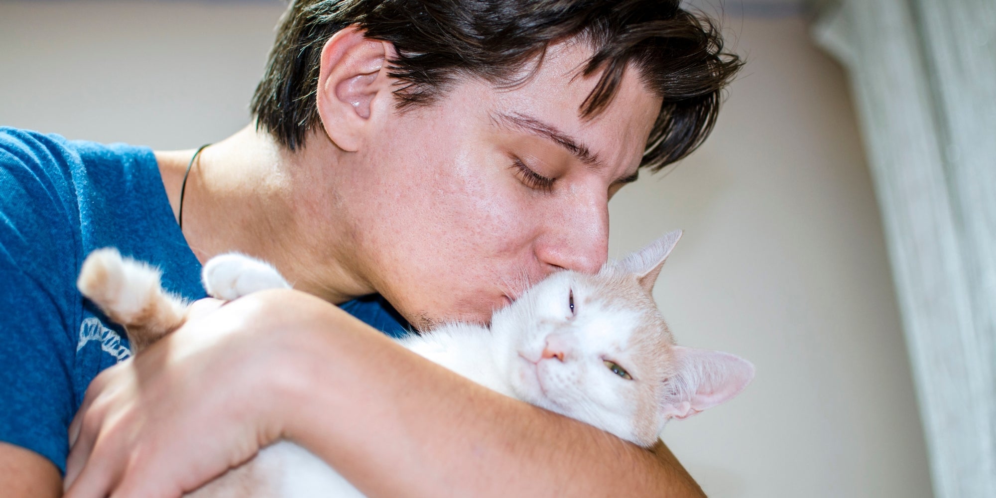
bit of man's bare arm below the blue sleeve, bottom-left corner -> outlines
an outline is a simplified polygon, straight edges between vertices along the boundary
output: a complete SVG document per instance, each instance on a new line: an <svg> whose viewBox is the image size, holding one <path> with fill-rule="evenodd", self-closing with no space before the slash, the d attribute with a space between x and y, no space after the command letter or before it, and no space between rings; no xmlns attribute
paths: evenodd
<svg viewBox="0 0 996 498"><path fill-rule="evenodd" d="M44 456L0 442L0 491L7 498L58 498L62 476Z"/></svg>

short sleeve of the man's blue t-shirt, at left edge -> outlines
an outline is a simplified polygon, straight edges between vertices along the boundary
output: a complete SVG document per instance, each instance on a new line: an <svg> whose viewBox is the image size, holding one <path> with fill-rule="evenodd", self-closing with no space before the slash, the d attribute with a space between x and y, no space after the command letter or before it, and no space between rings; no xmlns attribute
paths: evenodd
<svg viewBox="0 0 996 498"><path fill-rule="evenodd" d="M78 236L54 143L0 129L0 440L65 472Z"/></svg>

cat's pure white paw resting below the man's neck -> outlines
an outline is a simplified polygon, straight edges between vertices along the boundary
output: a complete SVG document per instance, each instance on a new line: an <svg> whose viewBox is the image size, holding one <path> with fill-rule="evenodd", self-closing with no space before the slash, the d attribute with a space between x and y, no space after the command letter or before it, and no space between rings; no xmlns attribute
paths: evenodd
<svg viewBox="0 0 996 498"><path fill-rule="evenodd" d="M266 289L290 289L272 266L244 254L222 254L204 265L204 289L214 298L231 301Z"/></svg>

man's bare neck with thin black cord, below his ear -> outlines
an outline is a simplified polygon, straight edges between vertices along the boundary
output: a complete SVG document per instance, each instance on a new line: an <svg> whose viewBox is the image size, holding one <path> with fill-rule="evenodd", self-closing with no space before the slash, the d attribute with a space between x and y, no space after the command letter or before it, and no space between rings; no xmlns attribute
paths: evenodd
<svg viewBox="0 0 996 498"><path fill-rule="evenodd" d="M373 288L350 269L349 239L329 216L335 192L326 176L335 168L319 162L342 151L327 137L310 138L290 151L250 124L202 150L186 181L183 235L201 263L240 252L273 264L295 288L341 303ZM174 216L193 152L155 153Z"/></svg>

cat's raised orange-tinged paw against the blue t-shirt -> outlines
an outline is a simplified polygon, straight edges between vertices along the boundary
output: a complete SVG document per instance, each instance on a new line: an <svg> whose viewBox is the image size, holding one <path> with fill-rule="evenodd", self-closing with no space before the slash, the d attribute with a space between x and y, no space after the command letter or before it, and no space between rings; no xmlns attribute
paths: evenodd
<svg viewBox="0 0 996 498"><path fill-rule="evenodd" d="M108 318L131 324L147 314L159 290L159 271L124 258L118 249L98 249L84 260L76 286Z"/></svg>

